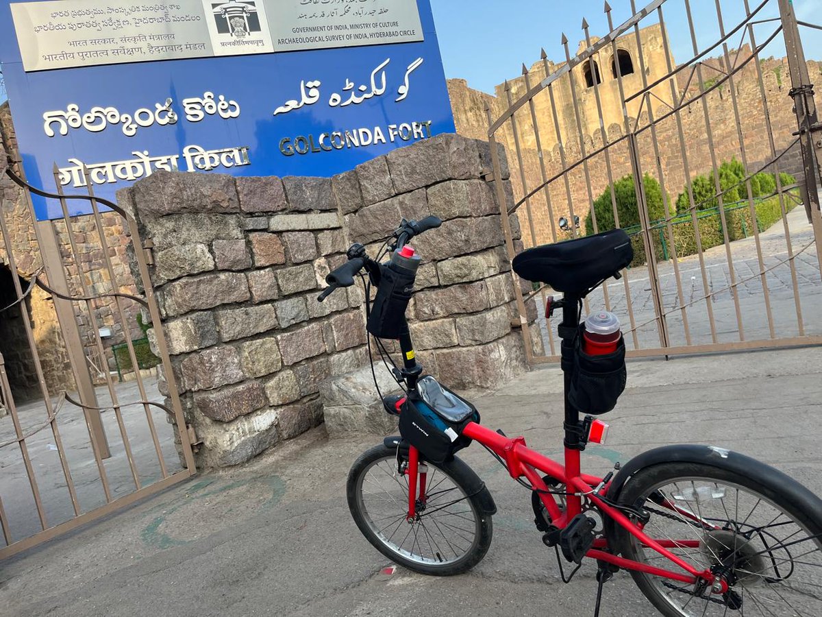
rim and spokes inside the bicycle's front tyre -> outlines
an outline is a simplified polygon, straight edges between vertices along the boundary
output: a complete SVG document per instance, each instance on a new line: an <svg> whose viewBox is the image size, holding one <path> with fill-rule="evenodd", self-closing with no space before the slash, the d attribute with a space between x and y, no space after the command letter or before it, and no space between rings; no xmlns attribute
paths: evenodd
<svg viewBox="0 0 822 617"><path fill-rule="evenodd" d="M455 564L475 550L480 517L445 471L428 465L427 503L407 522L408 476L397 473L394 457L368 465L357 480L357 502L365 524L391 553L415 564Z"/></svg>

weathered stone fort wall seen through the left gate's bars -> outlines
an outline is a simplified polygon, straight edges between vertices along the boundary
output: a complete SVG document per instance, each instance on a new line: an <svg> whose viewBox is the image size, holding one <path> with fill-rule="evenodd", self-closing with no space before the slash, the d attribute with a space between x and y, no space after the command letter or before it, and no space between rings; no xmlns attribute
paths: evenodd
<svg viewBox="0 0 822 617"><path fill-rule="evenodd" d="M12 249L15 266L18 273L30 278L43 266L39 253L39 244L35 234L35 224L30 214L27 198L23 190L5 174L7 153L10 153L12 165L20 173L20 155L17 151L16 137L8 104L0 105L0 197L2 197L2 216L7 227L9 237L4 239L0 233L0 266L10 263L7 243ZM53 187L44 187L53 190ZM126 294L136 292L136 285L132 272L127 266L126 248L130 242L122 225L122 218L114 212L104 212L101 215L102 229L109 248L109 257L112 259L115 283L112 285L109 271L104 267L103 247L100 242L98 226L93 216L76 216L72 218L72 234L77 248L77 260L72 256L67 225L64 221L55 222L58 235L58 245L61 257L66 265L66 276L69 290L72 295L83 295L82 284L89 295L109 293L113 289ZM82 278L81 278L82 277ZM2 294L14 295L14 290L0 290ZM101 364L101 368L109 368L113 357L107 354L105 360L99 360L96 348L95 330L99 327L109 327L113 336L104 340L108 348L125 341L125 331L132 339L142 336L136 322L139 306L136 303L123 301L123 308L127 315L127 325L122 327L119 321L116 304L113 299L98 299L94 303L94 314L90 316L85 310L76 313L76 319L81 330L81 339L86 346L86 354ZM40 362L43 366L46 384L50 392L58 392L62 388L74 387L74 377L68 362L68 355L62 340L62 334L54 311L53 301L48 293L35 288L30 299L30 318L34 329L34 336ZM27 341L18 341L20 343ZM27 357L27 352L21 345L12 345L7 341L7 350L12 350L13 357ZM7 362L9 359L7 358ZM33 364L21 362L15 370L25 373L21 383L37 383ZM21 373L21 374L23 374ZM95 375L95 378L97 376ZM39 388L29 392L36 392ZM21 392L22 393L22 392ZM28 395L25 395L26 397Z"/></svg>

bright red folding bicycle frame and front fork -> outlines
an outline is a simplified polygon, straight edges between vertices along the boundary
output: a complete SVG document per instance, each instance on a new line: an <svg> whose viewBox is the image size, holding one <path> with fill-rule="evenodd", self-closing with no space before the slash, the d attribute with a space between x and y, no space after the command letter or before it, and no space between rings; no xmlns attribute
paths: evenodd
<svg viewBox="0 0 822 617"><path fill-rule="evenodd" d="M620 510L606 503L603 497L607 494L609 485L604 485L603 479L598 476L589 476L580 471L580 450L566 448L565 466L562 466L560 463L526 447L523 437L508 438L473 422L465 427L463 434L465 437L483 443L488 448L491 448L493 452L496 452L506 463L512 478L524 478L528 480L534 489L538 489L538 491L540 491L539 499L542 500L547 513L550 515L552 525L558 529L564 529L575 516L580 514L582 512L583 499L589 499L598 507L599 511L603 513L603 516L610 517L617 525L628 531L632 536L635 536L637 540L640 540L644 546L663 555L672 561L672 563L677 564L677 566L685 570L686 573L673 572L665 568L656 568L648 564L608 553L604 550L607 549L606 540L596 540L593 548L586 554L586 557L598 559L608 564L614 564L620 568L638 570L653 576L669 578L687 584L694 584L698 579L709 583L714 582L716 577L709 569L699 570L694 568L691 564L688 564L685 560L669 550L677 548L699 548L699 540L654 540L644 533L640 525L631 522ZM408 516L411 519L416 516L417 504L425 503L426 500L427 468L421 469L420 466L419 452L417 448L413 448L412 446L409 448L409 465L406 471L409 476ZM550 476L561 484L566 485L566 507L564 510L560 508L554 496L549 492L549 487L543 481L543 475ZM698 517L694 517L692 513L682 511L672 503L663 503L663 507L694 518L701 524L709 525L708 522L701 521ZM711 525L711 527L714 526ZM725 582L722 582L722 584L723 592L727 591L725 589L727 584Z"/></svg>

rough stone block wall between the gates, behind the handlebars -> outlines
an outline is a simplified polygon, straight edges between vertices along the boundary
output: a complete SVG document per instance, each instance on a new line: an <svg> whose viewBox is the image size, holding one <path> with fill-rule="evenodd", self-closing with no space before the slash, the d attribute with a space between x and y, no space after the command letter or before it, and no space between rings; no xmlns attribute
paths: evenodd
<svg viewBox="0 0 822 617"><path fill-rule="evenodd" d="M350 244L373 256L401 217L445 221L413 242L423 265L408 314L427 372L466 388L524 369L488 169L487 143L446 135L333 179L160 172L118 193L155 246L199 466L246 461L321 423L320 383L368 357L360 288L316 296Z"/></svg>

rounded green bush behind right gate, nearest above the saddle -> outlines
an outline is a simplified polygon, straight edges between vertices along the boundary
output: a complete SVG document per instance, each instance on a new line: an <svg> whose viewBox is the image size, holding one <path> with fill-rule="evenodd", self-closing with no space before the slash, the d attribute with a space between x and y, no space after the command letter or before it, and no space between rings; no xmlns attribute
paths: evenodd
<svg viewBox="0 0 822 617"><path fill-rule="evenodd" d="M648 202L648 216L650 220L661 219L665 216L663 192L653 176L645 174L642 183L645 190L645 199ZM640 225L640 209L637 206L634 177L627 175L613 184L614 197L617 202L619 226L621 228ZM611 188L606 188L593 202L593 211L597 215L597 229L599 231L612 230L615 225L613 205L611 202ZM590 213L585 217L585 232L593 234L593 218Z"/></svg>

